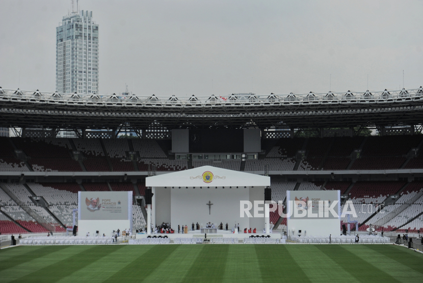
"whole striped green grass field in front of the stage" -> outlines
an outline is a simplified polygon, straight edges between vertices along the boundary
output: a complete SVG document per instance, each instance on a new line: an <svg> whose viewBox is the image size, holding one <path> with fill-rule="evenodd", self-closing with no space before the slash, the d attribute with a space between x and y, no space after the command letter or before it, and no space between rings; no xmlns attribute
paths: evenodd
<svg viewBox="0 0 423 283"><path fill-rule="evenodd" d="M87 245L0 250L0 282L423 282L394 245Z"/></svg>

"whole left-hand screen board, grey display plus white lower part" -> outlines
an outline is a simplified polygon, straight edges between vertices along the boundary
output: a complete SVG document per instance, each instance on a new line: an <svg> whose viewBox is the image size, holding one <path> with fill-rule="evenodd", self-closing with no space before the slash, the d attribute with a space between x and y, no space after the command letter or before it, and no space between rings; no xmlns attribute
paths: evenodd
<svg viewBox="0 0 423 283"><path fill-rule="evenodd" d="M80 191L78 192L78 233L96 231L112 236L113 230L132 231L131 191Z"/></svg>

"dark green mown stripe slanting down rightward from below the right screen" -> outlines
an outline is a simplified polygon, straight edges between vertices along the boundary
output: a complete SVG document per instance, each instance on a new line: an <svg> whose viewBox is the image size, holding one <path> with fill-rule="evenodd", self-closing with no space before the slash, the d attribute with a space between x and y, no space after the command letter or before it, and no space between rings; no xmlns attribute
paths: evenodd
<svg viewBox="0 0 423 283"><path fill-rule="evenodd" d="M376 266L364 261L361 257L356 256L346 248L344 245L316 245L323 253L330 257L334 262L343 267L345 270L350 270L359 281L381 281L381 282L399 282L396 278L390 276L386 272L380 270ZM352 248L360 248L359 245L345 245Z"/></svg>

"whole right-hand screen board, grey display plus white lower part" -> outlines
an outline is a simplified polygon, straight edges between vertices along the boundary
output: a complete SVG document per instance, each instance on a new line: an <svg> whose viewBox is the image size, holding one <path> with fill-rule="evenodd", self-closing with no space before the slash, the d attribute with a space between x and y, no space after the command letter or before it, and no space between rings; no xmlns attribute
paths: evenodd
<svg viewBox="0 0 423 283"><path fill-rule="evenodd" d="M307 215L301 217L303 211L298 209L299 201L312 202L312 207L305 207L307 209ZM286 203L287 203L287 229L289 235L292 236L293 230L294 235L299 235L301 230L302 236L324 236L329 237L340 235L340 191L339 190L311 190L311 191L286 191ZM338 216L333 216L327 209L323 207L320 210L322 217L319 217L319 201L328 201L329 206L334 201L338 201L337 205L333 208ZM296 210L298 213L296 213ZM310 210L312 214L317 216L310 216ZM325 212L326 210L326 212Z"/></svg>

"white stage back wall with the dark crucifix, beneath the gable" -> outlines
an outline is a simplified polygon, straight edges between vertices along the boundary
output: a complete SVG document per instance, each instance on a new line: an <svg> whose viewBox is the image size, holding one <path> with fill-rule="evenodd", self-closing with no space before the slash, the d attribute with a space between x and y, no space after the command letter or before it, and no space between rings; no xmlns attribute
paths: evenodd
<svg viewBox="0 0 423 283"><path fill-rule="evenodd" d="M155 204L157 224L170 222L173 229L178 225L188 225L191 230L192 222L203 224L212 222L220 224L228 223L229 229L235 223L239 223L242 229L257 228L262 232L265 228L265 218L240 217L240 201L263 201L265 194L264 187L239 187L222 188L215 187L202 189L191 188L164 188L156 187ZM208 202L210 201L210 209ZM259 207L263 208L264 205ZM253 209L250 211L253 214ZM263 214L264 210L260 212Z"/></svg>

